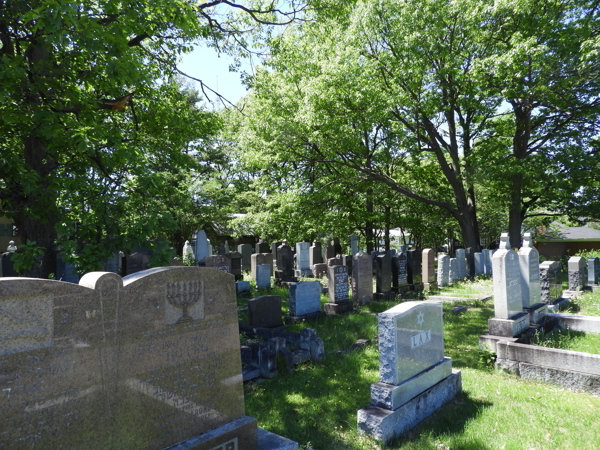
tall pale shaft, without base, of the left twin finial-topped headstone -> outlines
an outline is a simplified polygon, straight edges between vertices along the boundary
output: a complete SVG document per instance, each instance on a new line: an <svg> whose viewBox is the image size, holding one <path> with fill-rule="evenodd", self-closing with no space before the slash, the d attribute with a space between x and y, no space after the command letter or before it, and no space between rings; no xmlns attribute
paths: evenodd
<svg viewBox="0 0 600 450"><path fill-rule="evenodd" d="M495 317L510 319L523 312L523 297L519 256L510 248L508 233L500 236L500 249L494 253L492 264Z"/></svg>

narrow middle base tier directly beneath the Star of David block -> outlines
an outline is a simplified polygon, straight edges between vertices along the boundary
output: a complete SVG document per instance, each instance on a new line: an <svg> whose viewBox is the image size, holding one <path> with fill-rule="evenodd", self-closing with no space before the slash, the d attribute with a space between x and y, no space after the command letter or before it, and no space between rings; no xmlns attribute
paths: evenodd
<svg viewBox="0 0 600 450"><path fill-rule="evenodd" d="M452 374L452 358L441 362L398 386L378 382L371 385L371 403L384 409L397 410L410 399Z"/></svg>

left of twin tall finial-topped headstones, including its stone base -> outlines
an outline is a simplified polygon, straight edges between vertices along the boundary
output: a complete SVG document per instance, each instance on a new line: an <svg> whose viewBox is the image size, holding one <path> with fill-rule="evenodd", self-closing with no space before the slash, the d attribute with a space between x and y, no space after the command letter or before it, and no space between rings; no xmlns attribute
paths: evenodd
<svg viewBox="0 0 600 450"><path fill-rule="evenodd" d="M529 328L529 315L523 312L519 256L510 248L508 233L501 234L492 264L494 317L488 319L488 331L493 336L513 337Z"/></svg>

